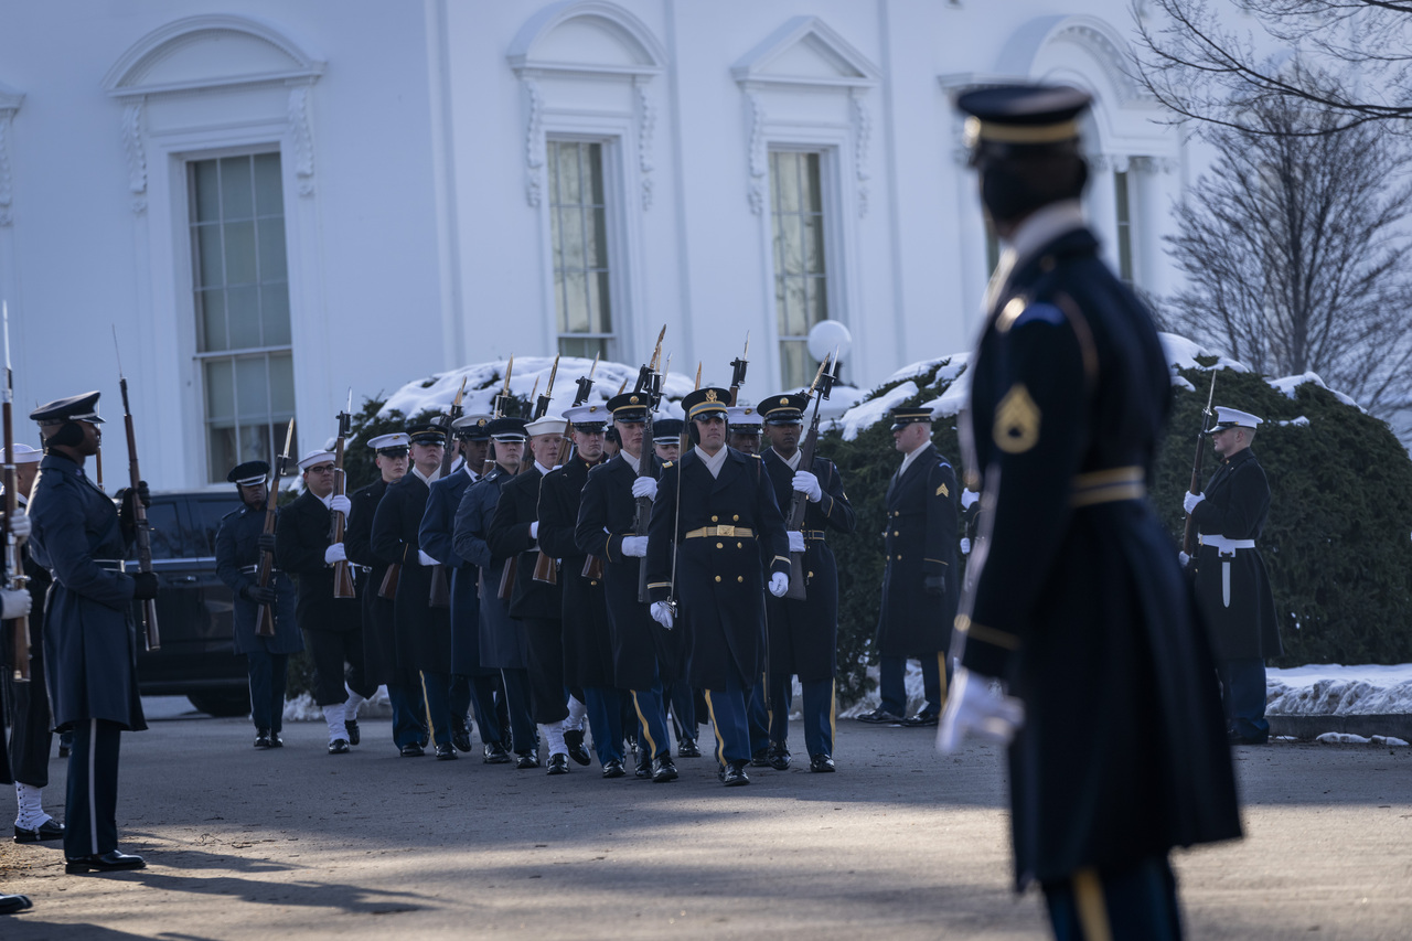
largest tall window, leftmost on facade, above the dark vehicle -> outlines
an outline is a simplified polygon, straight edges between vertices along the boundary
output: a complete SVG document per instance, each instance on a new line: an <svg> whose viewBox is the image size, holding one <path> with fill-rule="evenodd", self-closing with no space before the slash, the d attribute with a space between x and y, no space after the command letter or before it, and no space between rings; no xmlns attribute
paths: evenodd
<svg viewBox="0 0 1412 941"><path fill-rule="evenodd" d="M280 154L191 161L186 187L206 475L217 483L243 461L270 461L294 417Z"/></svg>

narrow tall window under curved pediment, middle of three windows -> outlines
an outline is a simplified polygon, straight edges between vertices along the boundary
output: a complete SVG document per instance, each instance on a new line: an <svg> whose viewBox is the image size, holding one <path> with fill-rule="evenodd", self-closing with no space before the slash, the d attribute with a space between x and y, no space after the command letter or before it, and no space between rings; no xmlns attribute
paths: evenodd
<svg viewBox="0 0 1412 941"><path fill-rule="evenodd" d="M603 144L551 140L548 148L559 352L609 359L613 300Z"/></svg>

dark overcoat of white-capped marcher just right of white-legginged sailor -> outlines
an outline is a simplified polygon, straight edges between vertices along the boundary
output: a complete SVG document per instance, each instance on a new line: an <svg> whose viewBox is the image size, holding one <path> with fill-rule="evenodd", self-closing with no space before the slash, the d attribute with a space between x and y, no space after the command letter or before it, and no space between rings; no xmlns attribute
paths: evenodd
<svg viewBox="0 0 1412 941"><path fill-rule="evenodd" d="M613 685L613 637L609 630L607 588L602 578L585 578L587 554L575 530L589 465L575 454L551 470L539 486L539 547L559 560L563 589L563 681L573 688Z"/></svg>

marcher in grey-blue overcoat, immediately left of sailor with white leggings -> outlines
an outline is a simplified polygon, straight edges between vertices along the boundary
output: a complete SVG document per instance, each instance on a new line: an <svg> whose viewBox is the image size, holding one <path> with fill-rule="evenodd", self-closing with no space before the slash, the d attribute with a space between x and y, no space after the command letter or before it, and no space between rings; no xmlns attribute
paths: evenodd
<svg viewBox="0 0 1412 941"><path fill-rule="evenodd" d="M505 722L501 729L504 725L510 726L510 747L515 753L515 767L532 769L539 767L539 756L530 712L525 639L510 619L507 603L500 598L507 557L493 554L487 541L501 490L520 473L525 421L501 417L487 422L486 427L490 431L496 466L462 495L460 506L456 507L452 545L462 560L480 571L480 663L483 667L500 671L505 697ZM530 572L521 575L530 578Z"/></svg>

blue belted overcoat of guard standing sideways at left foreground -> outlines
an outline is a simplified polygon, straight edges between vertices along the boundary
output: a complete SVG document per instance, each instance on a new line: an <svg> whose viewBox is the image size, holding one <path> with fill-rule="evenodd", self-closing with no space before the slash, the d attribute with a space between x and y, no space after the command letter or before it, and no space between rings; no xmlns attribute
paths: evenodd
<svg viewBox="0 0 1412 941"><path fill-rule="evenodd" d="M100 719L145 729L137 691L130 575L104 562L131 543L113 500L61 454L47 455L30 495L30 550L54 584L44 605L44 670L54 728ZM31 617L38 615L31 613Z"/></svg>

